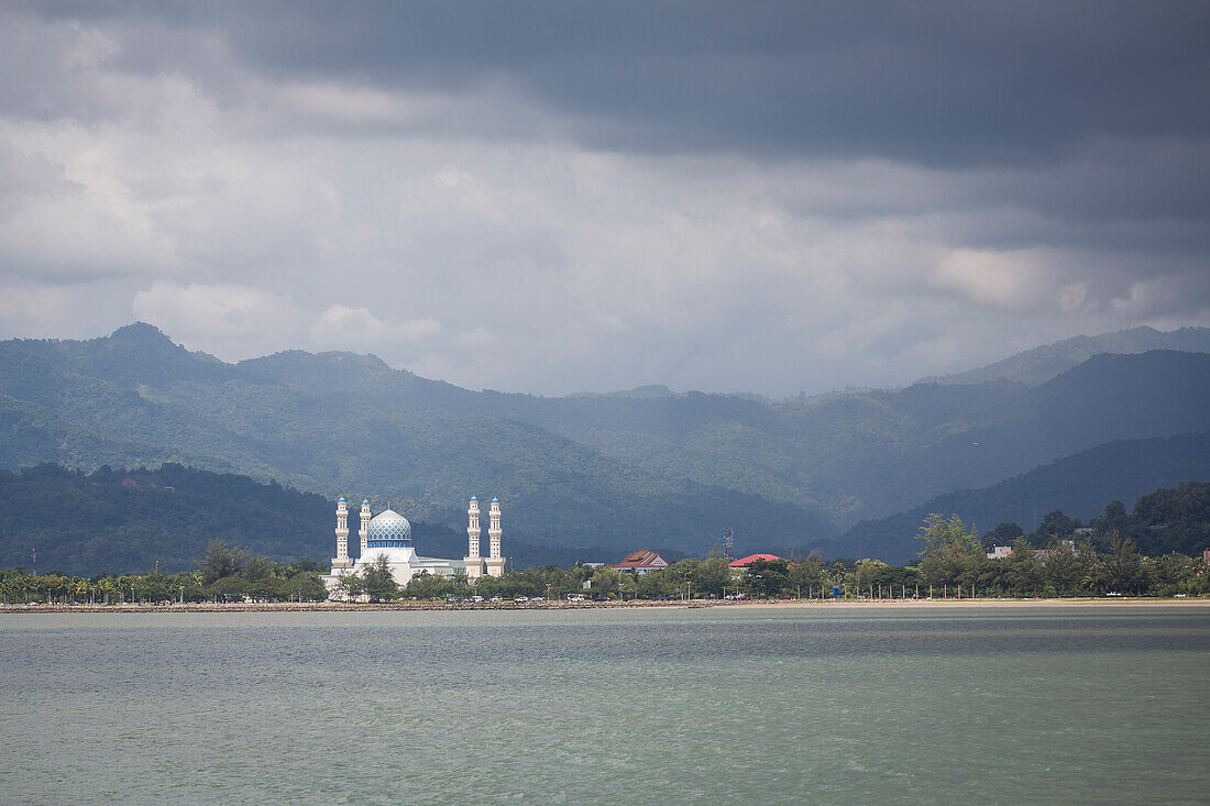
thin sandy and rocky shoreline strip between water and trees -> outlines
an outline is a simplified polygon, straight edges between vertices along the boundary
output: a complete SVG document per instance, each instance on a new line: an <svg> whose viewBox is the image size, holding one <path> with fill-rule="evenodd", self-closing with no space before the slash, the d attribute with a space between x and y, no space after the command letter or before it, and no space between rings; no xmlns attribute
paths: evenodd
<svg viewBox="0 0 1210 806"><path fill-rule="evenodd" d="M647 610L674 609L696 610L707 608L725 608L730 610L937 610L993 608L1006 610L1027 610L1030 608L1205 608L1210 609L1210 599L1157 599L1157 598L1114 598L1114 599L875 599L869 601L830 601L819 599L788 599L779 601L719 601L695 599L691 601L542 601L537 604L500 601L494 604L444 604L440 601L391 601L384 604L350 601L260 601L260 603L194 603L172 605L0 605L0 616L36 615L36 614L194 614L194 612L391 612L391 611L439 611L439 612L476 612L476 611L565 611L565 610Z"/></svg>

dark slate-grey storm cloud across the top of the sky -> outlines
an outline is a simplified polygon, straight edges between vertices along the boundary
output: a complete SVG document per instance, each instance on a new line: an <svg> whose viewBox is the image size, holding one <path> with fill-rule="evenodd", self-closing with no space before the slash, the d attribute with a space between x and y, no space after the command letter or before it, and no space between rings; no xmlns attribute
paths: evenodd
<svg viewBox="0 0 1210 806"><path fill-rule="evenodd" d="M269 2L39 6L209 31L281 77L503 81L594 148L1059 160L1210 131L1205 2ZM131 69L186 54L143 40ZM217 67L217 65L215 65ZM488 123L489 121L484 121Z"/></svg>

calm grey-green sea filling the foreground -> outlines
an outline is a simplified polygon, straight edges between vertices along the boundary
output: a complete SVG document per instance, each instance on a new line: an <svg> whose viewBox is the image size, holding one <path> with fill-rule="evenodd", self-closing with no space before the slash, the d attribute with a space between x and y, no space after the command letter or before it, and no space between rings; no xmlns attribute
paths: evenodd
<svg viewBox="0 0 1210 806"><path fill-rule="evenodd" d="M0 801L1206 802L1210 608L0 615Z"/></svg>

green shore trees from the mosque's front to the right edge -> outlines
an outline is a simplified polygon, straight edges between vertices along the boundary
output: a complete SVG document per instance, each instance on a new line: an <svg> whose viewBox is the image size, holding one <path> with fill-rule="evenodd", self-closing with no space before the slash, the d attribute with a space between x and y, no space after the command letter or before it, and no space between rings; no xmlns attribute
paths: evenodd
<svg viewBox="0 0 1210 806"><path fill-rule="evenodd" d="M1148 557L1131 537L1110 532L1104 541L1076 541L1051 535L1044 546L1019 535L1012 553L987 557L984 540L957 516L932 514L920 528L923 547L908 565L877 559L824 562L807 555L755 560L731 569L721 557L686 558L659 571L634 574L607 566L543 565L480 577L445 578L421 574L407 586L391 578L386 560L347 576L342 593L375 601L448 599L467 595L600 599L721 598L910 598L910 597L1096 597L1208 595L1210 569L1200 555L1166 553Z"/></svg>

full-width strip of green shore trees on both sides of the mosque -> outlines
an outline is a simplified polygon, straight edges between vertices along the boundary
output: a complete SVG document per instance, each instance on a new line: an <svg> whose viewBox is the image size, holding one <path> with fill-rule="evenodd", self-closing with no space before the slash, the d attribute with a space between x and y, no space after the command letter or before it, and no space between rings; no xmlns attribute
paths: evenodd
<svg viewBox="0 0 1210 806"><path fill-rule="evenodd" d="M1059 523L1059 517L1049 520ZM446 580L421 574L401 587L391 578L384 559L350 575L342 593L369 601L471 597L553 600L569 595L598 600L1210 595L1210 568L1202 557L1141 554L1135 541L1113 526L1104 539L1089 536L1078 542L1053 534L1042 548L1030 536L1019 535L1012 553L995 559L987 557L979 535L957 516L929 516L918 537L923 548L911 565L888 565L871 558L825 563L808 555L760 559L736 570L726 559L713 555L686 558L641 575L584 564L543 565L505 571L499 578L480 577L473 585L461 575ZM0 571L0 601L309 601L327 598L319 572L310 560L282 565L215 540L197 569L188 572L80 578L31 575L24 569Z"/></svg>

